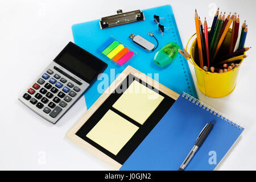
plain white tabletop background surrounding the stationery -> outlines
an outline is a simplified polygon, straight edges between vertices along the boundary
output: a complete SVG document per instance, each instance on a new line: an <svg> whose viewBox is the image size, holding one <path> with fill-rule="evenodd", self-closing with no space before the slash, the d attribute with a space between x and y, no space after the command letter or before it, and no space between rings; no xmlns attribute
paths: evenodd
<svg viewBox="0 0 256 182"><path fill-rule="evenodd" d="M236 11L246 19L246 46L253 47L242 63L236 89L227 97L213 99L197 89L199 98L245 127L242 137L217 167L220 170L256 169L255 124L255 1L0 1L0 169L111 170L65 138L86 111L82 97L64 117L52 125L18 101L22 90L34 80L69 42L71 26L123 12L170 4L185 45L195 32L195 8L207 16L213 7ZM214 14L214 12L213 12ZM190 65L191 66L191 65ZM195 81L195 72L191 68ZM224 138L225 140L225 138Z"/></svg>

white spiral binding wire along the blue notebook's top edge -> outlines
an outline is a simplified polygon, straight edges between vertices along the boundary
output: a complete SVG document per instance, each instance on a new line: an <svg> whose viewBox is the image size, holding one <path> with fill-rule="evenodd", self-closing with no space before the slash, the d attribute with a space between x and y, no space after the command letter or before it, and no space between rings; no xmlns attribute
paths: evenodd
<svg viewBox="0 0 256 182"><path fill-rule="evenodd" d="M207 108L206 110L209 111L210 113L213 113L213 115L217 114L217 117L220 118L221 120L224 119L225 122L231 123L233 126L238 127L240 130L242 129L242 127L240 125L238 125L237 123L231 121L230 119L228 119L226 117L225 114L221 113L220 111L217 111L216 109L214 109L213 107L210 107L209 105L205 104L204 102L196 99L195 97L183 92L182 97L185 97L185 99L187 99L189 102L192 102L193 104L196 104L199 107L203 106L203 109Z"/></svg>

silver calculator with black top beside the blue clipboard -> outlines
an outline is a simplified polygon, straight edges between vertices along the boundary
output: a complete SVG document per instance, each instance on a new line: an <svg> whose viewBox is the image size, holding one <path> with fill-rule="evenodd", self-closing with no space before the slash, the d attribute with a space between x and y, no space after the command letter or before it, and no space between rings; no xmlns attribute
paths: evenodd
<svg viewBox="0 0 256 182"><path fill-rule="evenodd" d="M108 64L69 42L19 96L37 114L56 123L97 80Z"/></svg>

